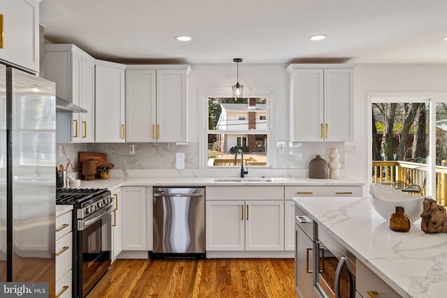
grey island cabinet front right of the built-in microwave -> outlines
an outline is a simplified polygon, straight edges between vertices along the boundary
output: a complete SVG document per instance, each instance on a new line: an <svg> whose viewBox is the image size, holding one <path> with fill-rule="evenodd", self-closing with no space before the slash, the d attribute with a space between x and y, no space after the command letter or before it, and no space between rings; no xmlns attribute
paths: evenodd
<svg viewBox="0 0 447 298"><path fill-rule="evenodd" d="M401 295L397 294L397 292L393 290L390 285L374 274L371 269L366 267L366 265L358 259L356 262L356 290L361 297L365 298L402 297Z"/></svg>

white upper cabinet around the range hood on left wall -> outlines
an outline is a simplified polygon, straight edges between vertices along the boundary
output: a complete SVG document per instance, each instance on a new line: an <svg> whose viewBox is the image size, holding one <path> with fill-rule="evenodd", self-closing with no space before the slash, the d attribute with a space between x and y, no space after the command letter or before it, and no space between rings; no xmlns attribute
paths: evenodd
<svg viewBox="0 0 447 298"><path fill-rule="evenodd" d="M68 142L94 142L95 59L72 44L45 45L44 67L45 78L56 83L56 96L87 110L57 117L62 121L57 123L57 136L69 136Z"/></svg>

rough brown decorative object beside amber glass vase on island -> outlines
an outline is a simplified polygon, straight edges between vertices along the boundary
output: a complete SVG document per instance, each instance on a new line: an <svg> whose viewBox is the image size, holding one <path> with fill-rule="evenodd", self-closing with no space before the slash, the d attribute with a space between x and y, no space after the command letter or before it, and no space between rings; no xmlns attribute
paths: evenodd
<svg viewBox="0 0 447 298"><path fill-rule="evenodd" d="M426 233L447 233L446 209L433 199L424 199L420 228Z"/></svg>

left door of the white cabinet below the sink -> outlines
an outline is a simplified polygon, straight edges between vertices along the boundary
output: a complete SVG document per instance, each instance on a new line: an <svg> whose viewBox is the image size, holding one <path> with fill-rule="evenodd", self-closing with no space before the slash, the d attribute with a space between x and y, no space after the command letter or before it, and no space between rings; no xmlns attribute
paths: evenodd
<svg viewBox="0 0 447 298"><path fill-rule="evenodd" d="M244 201L206 202L207 251L244 251Z"/></svg>

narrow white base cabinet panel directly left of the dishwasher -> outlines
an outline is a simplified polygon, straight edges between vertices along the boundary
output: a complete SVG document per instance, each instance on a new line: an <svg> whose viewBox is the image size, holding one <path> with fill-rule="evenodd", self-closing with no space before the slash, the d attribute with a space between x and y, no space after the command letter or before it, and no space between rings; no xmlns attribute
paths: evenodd
<svg viewBox="0 0 447 298"><path fill-rule="evenodd" d="M146 187L124 186L122 195L122 250L147 251Z"/></svg>

